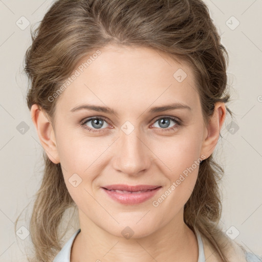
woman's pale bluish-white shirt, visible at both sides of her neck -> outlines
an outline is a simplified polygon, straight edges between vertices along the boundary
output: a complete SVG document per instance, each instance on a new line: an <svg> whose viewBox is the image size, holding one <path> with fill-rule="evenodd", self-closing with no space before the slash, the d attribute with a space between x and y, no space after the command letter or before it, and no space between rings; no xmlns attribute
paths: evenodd
<svg viewBox="0 0 262 262"><path fill-rule="evenodd" d="M64 244L63 248L60 250L60 252L56 255L53 262L70 262L70 256L71 256L71 248L72 244L74 242L74 239L76 238L77 234L81 231L79 228L68 240L67 243ZM199 258L198 262L205 262L205 253L204 253L204 246L202 242L201 234L198 230L195 230L195 235L197 236L198 240L198 248L199 248ZM247 262L261 262L262 260L259 259L256 255L246 252L246 260Z"/></svg>

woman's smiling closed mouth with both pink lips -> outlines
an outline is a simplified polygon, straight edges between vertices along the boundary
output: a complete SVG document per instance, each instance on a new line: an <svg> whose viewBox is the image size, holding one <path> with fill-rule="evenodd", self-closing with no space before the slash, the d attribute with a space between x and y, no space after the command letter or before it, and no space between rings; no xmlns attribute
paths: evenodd
<svg viewBox="0 0 262 262"><path fill-rule="evenodd" d="M110 185L101 188L111 199L121 204L135 205L152 198L161 187L152 185Z"/></svg>

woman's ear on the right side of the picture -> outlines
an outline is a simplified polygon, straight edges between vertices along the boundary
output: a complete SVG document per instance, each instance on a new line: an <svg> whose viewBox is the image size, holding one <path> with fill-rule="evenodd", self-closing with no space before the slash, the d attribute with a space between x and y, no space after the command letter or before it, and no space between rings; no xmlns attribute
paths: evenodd
<svg viewBox="0 0 262 262"><path fill-rule="evenodd" d="M206 159L210 157L219 140L220 130L226 118L226 105L223 102L216 102L213 115L210 116L208 126L206 127L205 138L203 140L201 155Z"/></svg>

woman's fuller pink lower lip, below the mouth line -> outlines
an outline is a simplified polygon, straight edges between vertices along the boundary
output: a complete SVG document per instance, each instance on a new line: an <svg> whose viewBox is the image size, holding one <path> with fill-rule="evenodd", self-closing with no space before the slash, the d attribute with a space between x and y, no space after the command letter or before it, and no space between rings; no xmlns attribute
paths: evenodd
<svg viewBox="0 0 262 262"><path fill-rule="evenodd" d="M119 193L116 191L110 191L108 189L102 188L113 200L128 205L135 205L145 202L146 200L152 198L161 187L152 189L147 192L141 193Z"/></svg>

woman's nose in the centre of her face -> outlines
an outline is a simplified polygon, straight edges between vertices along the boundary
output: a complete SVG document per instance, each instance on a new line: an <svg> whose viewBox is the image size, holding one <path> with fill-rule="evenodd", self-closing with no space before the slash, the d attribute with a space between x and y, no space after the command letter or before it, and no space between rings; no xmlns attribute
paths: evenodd
<svg viewBox="0 0 262 262"><path fill-rule="evenodd" d="M145 172L152 159L152 152L146 142L145 136L139 134L139 128L135 128L128 135L120 130L113 160L115 170L129 176L139 176Z"/></svg>

